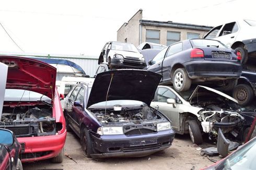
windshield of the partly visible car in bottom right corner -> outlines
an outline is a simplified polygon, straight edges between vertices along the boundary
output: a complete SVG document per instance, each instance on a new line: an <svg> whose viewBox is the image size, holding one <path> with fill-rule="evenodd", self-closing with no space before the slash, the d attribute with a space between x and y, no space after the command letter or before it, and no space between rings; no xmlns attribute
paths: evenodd
<svg viewBox="0 0 256 170"><path fill-rule="evenodd" d="M246 146L234 152L228 159L221 162L215 169L255 169L256 167L256 137Z"/></svg>

